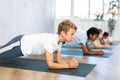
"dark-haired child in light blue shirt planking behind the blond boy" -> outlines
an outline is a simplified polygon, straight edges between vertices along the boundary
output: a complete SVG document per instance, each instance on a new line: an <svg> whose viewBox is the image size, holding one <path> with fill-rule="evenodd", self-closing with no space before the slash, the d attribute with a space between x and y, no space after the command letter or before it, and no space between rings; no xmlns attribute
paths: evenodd
<svg viewBox="0 0 120 80"><path fill-rule="evenodd" d="M95 41L99 35L99 30L95 27L87 30L87 34L82 31L77 31L72 42L65 42L64 46L81 46L84 54L103 54L103 51L93 51L90 49L89 42Z"/></svg>

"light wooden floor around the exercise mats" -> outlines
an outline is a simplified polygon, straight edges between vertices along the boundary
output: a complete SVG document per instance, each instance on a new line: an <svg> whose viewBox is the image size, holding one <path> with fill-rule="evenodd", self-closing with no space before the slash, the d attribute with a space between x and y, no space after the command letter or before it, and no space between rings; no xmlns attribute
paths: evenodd
<svg viewBox="0 0 120 80"><path fill-rule="evenodd" d="M80 63L97 64L87 77L0 67L0 80L120 80L120 45L112 51L113 54L109 58L74 56ZM71 58L71 56L63 57L65 59ZM42 56L29 56L26 58L44 59Z"/></svg>

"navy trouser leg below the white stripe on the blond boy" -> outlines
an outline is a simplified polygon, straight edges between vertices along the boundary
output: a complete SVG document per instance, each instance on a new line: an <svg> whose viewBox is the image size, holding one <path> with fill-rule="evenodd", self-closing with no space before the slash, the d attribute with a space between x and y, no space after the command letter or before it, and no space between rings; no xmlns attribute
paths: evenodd
<svg viewBox="0 0 120 80"><path fill-rule="evenodd" d="M1 58L17 58L23 56L20 46L15 46L14 48L0 53L0 59Z"/></svg>

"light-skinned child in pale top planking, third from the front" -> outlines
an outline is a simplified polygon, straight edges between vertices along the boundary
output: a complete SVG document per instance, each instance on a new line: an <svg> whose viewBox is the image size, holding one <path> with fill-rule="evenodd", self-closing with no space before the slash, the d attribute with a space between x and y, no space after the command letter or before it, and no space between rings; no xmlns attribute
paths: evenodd
<svg viewBox="0 0 120 80"><path fill-rule="evenodd" d="M98 30L100 32L98 38L95 41L92 41L94 48L108 48L109 44L105 43L103 40L103 31L101 29Z"/></svg>

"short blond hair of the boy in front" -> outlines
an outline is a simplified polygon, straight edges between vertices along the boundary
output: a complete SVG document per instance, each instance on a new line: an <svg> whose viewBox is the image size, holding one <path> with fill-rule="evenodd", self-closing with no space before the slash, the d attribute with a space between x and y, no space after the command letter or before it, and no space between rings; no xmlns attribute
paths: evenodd
<svg viewBox="0 0 120 80"><path fill-rule="evenodd" d="M67 33L71 28L77 30L77 26L71 20L65 19L58 26L58 34L60 34L61 31Z"/></svg>

